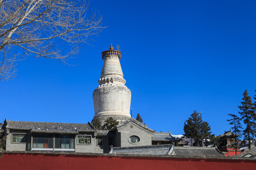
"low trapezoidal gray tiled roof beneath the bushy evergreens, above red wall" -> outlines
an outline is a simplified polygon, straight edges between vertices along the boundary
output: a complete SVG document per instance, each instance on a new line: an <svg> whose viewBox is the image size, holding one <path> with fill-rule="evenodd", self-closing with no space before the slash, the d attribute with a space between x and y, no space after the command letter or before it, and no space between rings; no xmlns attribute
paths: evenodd
<svg viewBox="0 0 256 170"><path fill-rule="evenodd" d="M175 146L172 155L178 156L224 156L215 147L185 147Z"/></svg>

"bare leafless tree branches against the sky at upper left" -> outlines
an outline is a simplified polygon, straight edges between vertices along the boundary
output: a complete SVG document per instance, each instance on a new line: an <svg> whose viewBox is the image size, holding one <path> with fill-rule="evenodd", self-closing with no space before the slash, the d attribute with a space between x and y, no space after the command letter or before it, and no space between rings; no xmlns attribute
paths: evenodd
<svg viewBox="0 0 256 170"><path fill-rule="evenodd" d="M29 55L66 63L104 28L101 16L89 11L85 0L0 0L0 80L13 78L17 61ZM56 40L70 50L63 55Z"/></svg>

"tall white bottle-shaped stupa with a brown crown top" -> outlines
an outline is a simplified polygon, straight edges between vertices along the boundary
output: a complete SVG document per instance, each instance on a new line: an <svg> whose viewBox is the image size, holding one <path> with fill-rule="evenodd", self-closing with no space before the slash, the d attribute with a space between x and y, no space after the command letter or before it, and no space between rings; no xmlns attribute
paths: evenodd
<svg viewBox="0 0 256 170"><path fill-rule="evenodd" d="M93 92L94 117L103 123L109 117L117 119L120 123L131 118L130 104L131 91L125 85L122 68L119 62L121 52L114 50L103 51L104 60L101 70L99 87Z"/></svg>

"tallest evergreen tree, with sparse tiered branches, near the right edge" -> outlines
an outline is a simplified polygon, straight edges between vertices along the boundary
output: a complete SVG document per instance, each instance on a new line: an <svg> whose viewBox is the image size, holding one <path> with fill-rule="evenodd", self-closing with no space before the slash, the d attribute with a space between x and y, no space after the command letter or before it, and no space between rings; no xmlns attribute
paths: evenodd
<svg viewBox="0 0 256 170"><path fill-rule="evenodd" d="M254 137L256 136L256 115L252 99L248 95L247 90L245 90L243 96L243 102L241 102L242 106L238 106L240 109L238 113L241 116L240 119L243 120L244 124L246 125L246 128L243 131L244 140L249 142L248 147L251 149L251 141L254 140Z"/></svg>

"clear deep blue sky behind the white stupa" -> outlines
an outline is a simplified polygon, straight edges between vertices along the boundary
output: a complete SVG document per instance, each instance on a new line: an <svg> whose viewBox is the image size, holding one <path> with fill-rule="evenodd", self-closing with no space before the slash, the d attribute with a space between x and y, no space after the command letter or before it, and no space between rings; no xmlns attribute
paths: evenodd
<svg viewBox="0 0 256 170"><path fill-rule="evenodd" d="M107 26L70 64L29 56L0 82L0 121L87 123L101 52L120 45L133 116L183 134L193 110L216 135L229 130L245 89L256 93L256 1L91 0ZM64 46L59 46L64 51Z"/></svg>

